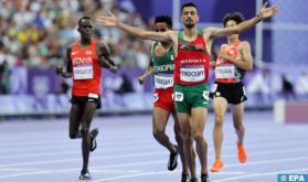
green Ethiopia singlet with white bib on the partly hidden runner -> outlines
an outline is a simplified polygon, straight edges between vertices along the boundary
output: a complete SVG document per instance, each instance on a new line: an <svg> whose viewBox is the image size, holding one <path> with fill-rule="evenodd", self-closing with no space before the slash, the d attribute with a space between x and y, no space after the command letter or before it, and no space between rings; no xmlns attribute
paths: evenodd
<svg viewBox="0 0 308 182"><path fill-rule="evenodd" d="M153 62L152 81L155 88L167 89L173 87L173 47L170 45L169 51L163 56L157 56L155 49L159 43L155 42L151 49L151 56Z"/></svg>

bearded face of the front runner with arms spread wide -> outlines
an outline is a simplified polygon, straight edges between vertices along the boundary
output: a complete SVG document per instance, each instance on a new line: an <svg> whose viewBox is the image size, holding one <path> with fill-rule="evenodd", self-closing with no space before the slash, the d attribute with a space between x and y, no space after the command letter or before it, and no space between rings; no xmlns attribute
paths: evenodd
<svg viewBox="0 0 308 182"><path fill-rule="evenodd" d="M181 21L187 28L192 28L199 21L199 15L194 7L184 7L182 10Z"/></svg>

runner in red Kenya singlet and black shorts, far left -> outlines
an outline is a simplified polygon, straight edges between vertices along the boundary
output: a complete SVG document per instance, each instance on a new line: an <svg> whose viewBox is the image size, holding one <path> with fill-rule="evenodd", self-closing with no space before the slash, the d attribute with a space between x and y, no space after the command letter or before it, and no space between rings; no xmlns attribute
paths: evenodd
<svg viewBox="0 0 308 182"><path fill-rule="evenodd" d="M95 110L100 108L102 67L117 73L107 45L92 39L93 21L84 17L78 21L81 41L68 45L66 51L66 72L57 66L55 73L64 78L73 76L72 107L70 113L70 138L82 138L83 169L81 180L91 179L88 172L89 151L96 149L98 129L89 132Z"/></svg>

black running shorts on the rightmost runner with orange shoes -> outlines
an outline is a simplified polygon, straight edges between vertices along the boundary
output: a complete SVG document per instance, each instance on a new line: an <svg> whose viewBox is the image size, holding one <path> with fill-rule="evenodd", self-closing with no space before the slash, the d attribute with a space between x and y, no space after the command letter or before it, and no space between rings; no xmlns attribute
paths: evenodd
<svg viewBox="0 0 308 182"><path fill-rule="evenodd" d="M247 100L245 95L245 87L242 82L234 84L224 84L215 82L212 87L210 97L223 97L229 104L237 105L242 101Z"/></svg>

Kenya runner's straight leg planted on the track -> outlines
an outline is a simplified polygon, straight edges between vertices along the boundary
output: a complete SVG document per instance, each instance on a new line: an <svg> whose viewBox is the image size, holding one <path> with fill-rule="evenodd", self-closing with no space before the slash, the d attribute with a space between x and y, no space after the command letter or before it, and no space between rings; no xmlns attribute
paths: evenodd
<svg viewBox="0 0 308 182"><path fill-rule="evenodd" d="M95 103L86 103L84 106L84 115L82 117L82 148L83 148L83 171L87 170L88 165L88 157L89 157L89 147L91 147L91 139L89 139L89 128L93 116L95 114L97 104Z"/></svg>

